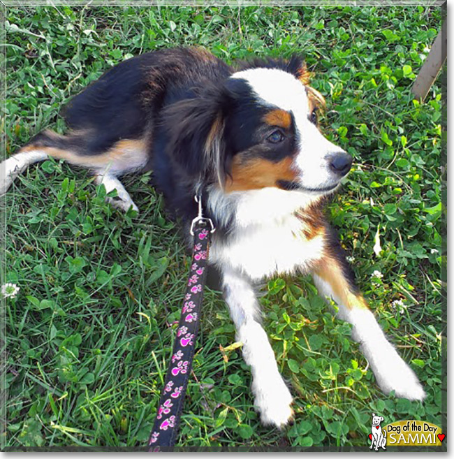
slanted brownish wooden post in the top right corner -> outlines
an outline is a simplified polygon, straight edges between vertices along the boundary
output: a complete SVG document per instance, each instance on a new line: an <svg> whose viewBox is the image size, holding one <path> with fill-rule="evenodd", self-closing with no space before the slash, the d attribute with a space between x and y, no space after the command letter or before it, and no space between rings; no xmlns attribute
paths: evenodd
<svg viewBox="0 0 454 459"><path fill-rule="evenodd" d="M425 96L427 96L427 93L430 91L430 87L433 85L446 60L447 44L448 37L445 20L441 26L441 31L439 31L437 38L435 38L432 48L430 48L430 52L427 54L427 58L411 87L411 92L415 95L415 99L419 99L423 102Z"/></svg>

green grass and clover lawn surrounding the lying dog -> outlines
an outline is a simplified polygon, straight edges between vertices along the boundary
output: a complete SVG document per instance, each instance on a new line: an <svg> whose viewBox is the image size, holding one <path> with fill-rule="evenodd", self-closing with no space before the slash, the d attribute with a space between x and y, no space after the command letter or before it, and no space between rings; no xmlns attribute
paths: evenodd
<svg viewBox="0 0 454 459"><path fill-rule="evenodd" d="M423 104L410 92L442 17L423 6L6 8L5 156L47 126L64 132L61 106L113 64L202 45L229 63L304 53L328 103L323 129L355 158L328 214L427 399L383 395L350 326L310 279L273 279L264 326L295 395L295 423L263 427L228 311L207 291L181 446L360 449L372 412L384 424L444 423L442 78ZM190 263L148 179L124 180L138 215L113 210L87 171L58 161L31 166L2 198L1 283L20 287L2 309L3 447L145 446Z"/></svg>

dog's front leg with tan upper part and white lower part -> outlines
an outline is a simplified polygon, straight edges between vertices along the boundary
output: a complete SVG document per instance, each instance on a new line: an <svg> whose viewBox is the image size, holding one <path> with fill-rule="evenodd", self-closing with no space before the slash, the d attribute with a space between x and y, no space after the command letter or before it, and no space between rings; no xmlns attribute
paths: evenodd
<svg viewBox="0 0 454 459"><path fill-rule="evenodd" d="M388 342L348 273L346 261L338 256L328 256L316 265L314 282L318 291L335 300L339 318L353 325L353 340L360 343L381 390L384 393L395 391L397 397L409 400L423 400L425 392L416 374Z"/></svg>

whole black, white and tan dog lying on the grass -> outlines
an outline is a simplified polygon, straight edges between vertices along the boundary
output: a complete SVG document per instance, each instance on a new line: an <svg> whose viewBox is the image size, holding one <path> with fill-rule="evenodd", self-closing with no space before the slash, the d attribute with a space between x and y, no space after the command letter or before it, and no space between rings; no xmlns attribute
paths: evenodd
<svg viewBox="0 0 454 459"><path fill-rule="evenodd" d="M168 210L189 233L198 213L214 222L210 265L251 367L254 405L283 428L292 395L277 367L254 287L274 275L311 273L337 303L384 393L425 392L383 334L356 286L323 205L352 157L318 127L323 96L304 61L256 59L229 66L199 48L157 50L122 61L75 96L70 131L46 130L1 163L0 194L29 164L52 156L89 168L112 205L138 210L119 177L152 170Z"/></svg>

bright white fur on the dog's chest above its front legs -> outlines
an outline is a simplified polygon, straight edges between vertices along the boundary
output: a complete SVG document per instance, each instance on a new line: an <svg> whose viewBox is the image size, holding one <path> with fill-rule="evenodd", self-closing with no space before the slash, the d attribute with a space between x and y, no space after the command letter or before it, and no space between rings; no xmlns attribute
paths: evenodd
<svg viewBox="0 0 454 459"><path fill-rule="evenodd" d="M213 238L210 262L229 265L253 280L295 270L304 272L321 258L323 237L307 239L302 229L302 222L294 215L239 228L227 242Z"/></svg>

